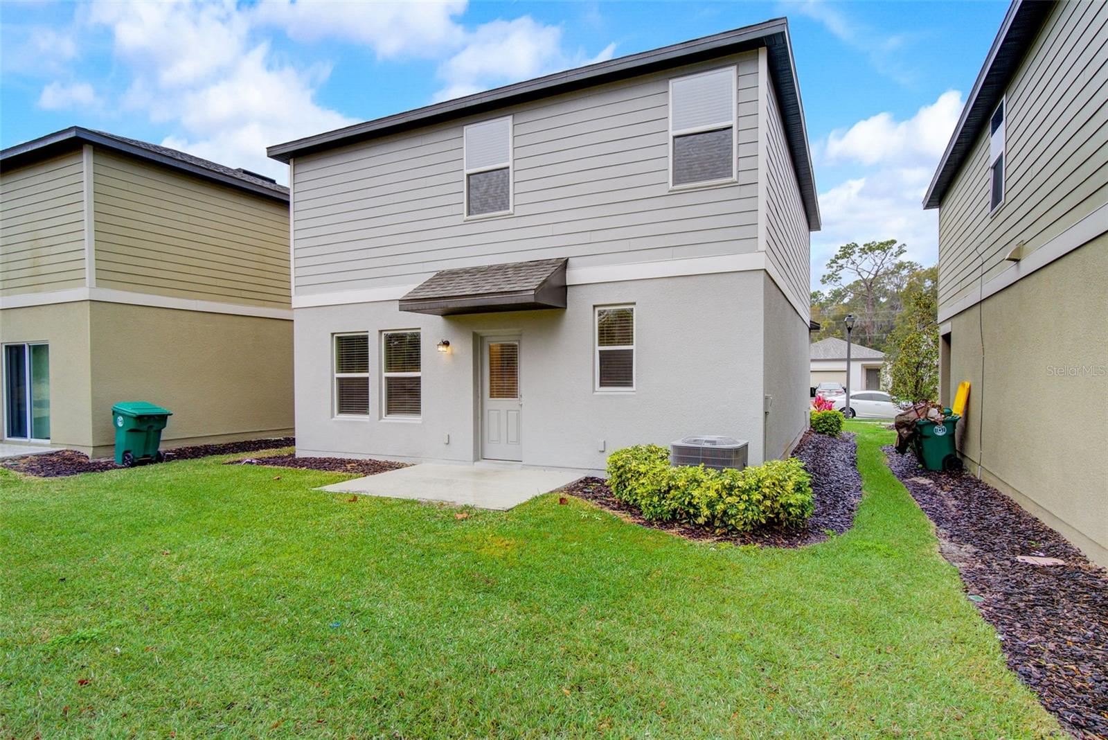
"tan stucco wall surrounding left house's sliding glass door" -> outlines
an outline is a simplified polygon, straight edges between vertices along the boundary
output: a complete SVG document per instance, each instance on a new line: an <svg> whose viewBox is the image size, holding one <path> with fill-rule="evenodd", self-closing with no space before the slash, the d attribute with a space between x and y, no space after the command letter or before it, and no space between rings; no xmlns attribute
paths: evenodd
<svg viewBox="0 0 1108 740"><path fill-rule="evenodd" d="M92 446L89 302L0 310L0 342L50 345L50 443L88 452ZM6 431L0 426L0 434Z"/></svg>

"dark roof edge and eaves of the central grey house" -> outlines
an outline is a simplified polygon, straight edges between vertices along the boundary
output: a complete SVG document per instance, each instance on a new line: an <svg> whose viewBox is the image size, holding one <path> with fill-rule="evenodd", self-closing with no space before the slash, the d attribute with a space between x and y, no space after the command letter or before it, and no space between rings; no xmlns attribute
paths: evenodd
<svg viewBox="0 0 1108 740"><path fill-rule="evenodd" d="M363 142L388 134L394 134L420 126L451 121L466 115L494 111L548 97L606 82L625 80L681 64L715 59L765 47L769 52L769 71L777 91L779 107L784 120L786 136L792 163L800 184L800 194L811 230L820 228L819 202L815 195L815 178L812 171L811 152L808 148L808 131L804 126L804 110L800 101L800 85L797 83L792 45L789 41L789 23L783 18L747 25L733 31L695 39L684 43L663 47L638 54L630 54L598 62L575 70L556 72L543 78L526 80L485 92L458 97L455 100L425 105L413 111L397 113L338 129L315 136L270 146L267 153L280 162L293 157L322 152L336 146Z"/></svg>

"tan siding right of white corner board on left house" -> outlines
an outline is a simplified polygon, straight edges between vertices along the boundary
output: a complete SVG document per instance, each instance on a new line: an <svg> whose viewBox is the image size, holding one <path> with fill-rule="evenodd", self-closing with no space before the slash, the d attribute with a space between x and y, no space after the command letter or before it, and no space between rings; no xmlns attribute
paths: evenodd
<svg viewBox="0 0 1108 740"><path fill-rule="evenodd" d="M289 305L285 204L101 150L93 204L98 288Z"/></svg>

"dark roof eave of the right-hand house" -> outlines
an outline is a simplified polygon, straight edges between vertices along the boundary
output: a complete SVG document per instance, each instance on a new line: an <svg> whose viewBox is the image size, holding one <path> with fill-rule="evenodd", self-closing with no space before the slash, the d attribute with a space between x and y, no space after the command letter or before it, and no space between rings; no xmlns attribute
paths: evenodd
<svg viewBox="0 0 1108 740"><path fill-rule="evenodd" d="M1013 0L1008 7L1001 30L985 56L985 64L977 73L977 81L962 109L958 125L954 127L927 194L923 196L924 208L937 208L942 203L1054 6L1053 0Z"/></svg>

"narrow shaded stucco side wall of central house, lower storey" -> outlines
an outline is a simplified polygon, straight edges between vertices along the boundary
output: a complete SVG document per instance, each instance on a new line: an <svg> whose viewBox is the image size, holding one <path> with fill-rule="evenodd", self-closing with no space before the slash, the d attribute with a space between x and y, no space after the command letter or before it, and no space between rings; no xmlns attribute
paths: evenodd
<svg viewBox="0 0 1108 740"><path fill-rule="evenodd" d="M784 458L808 429L808 322L768 275L762 274L766 456Z"/></svg>

